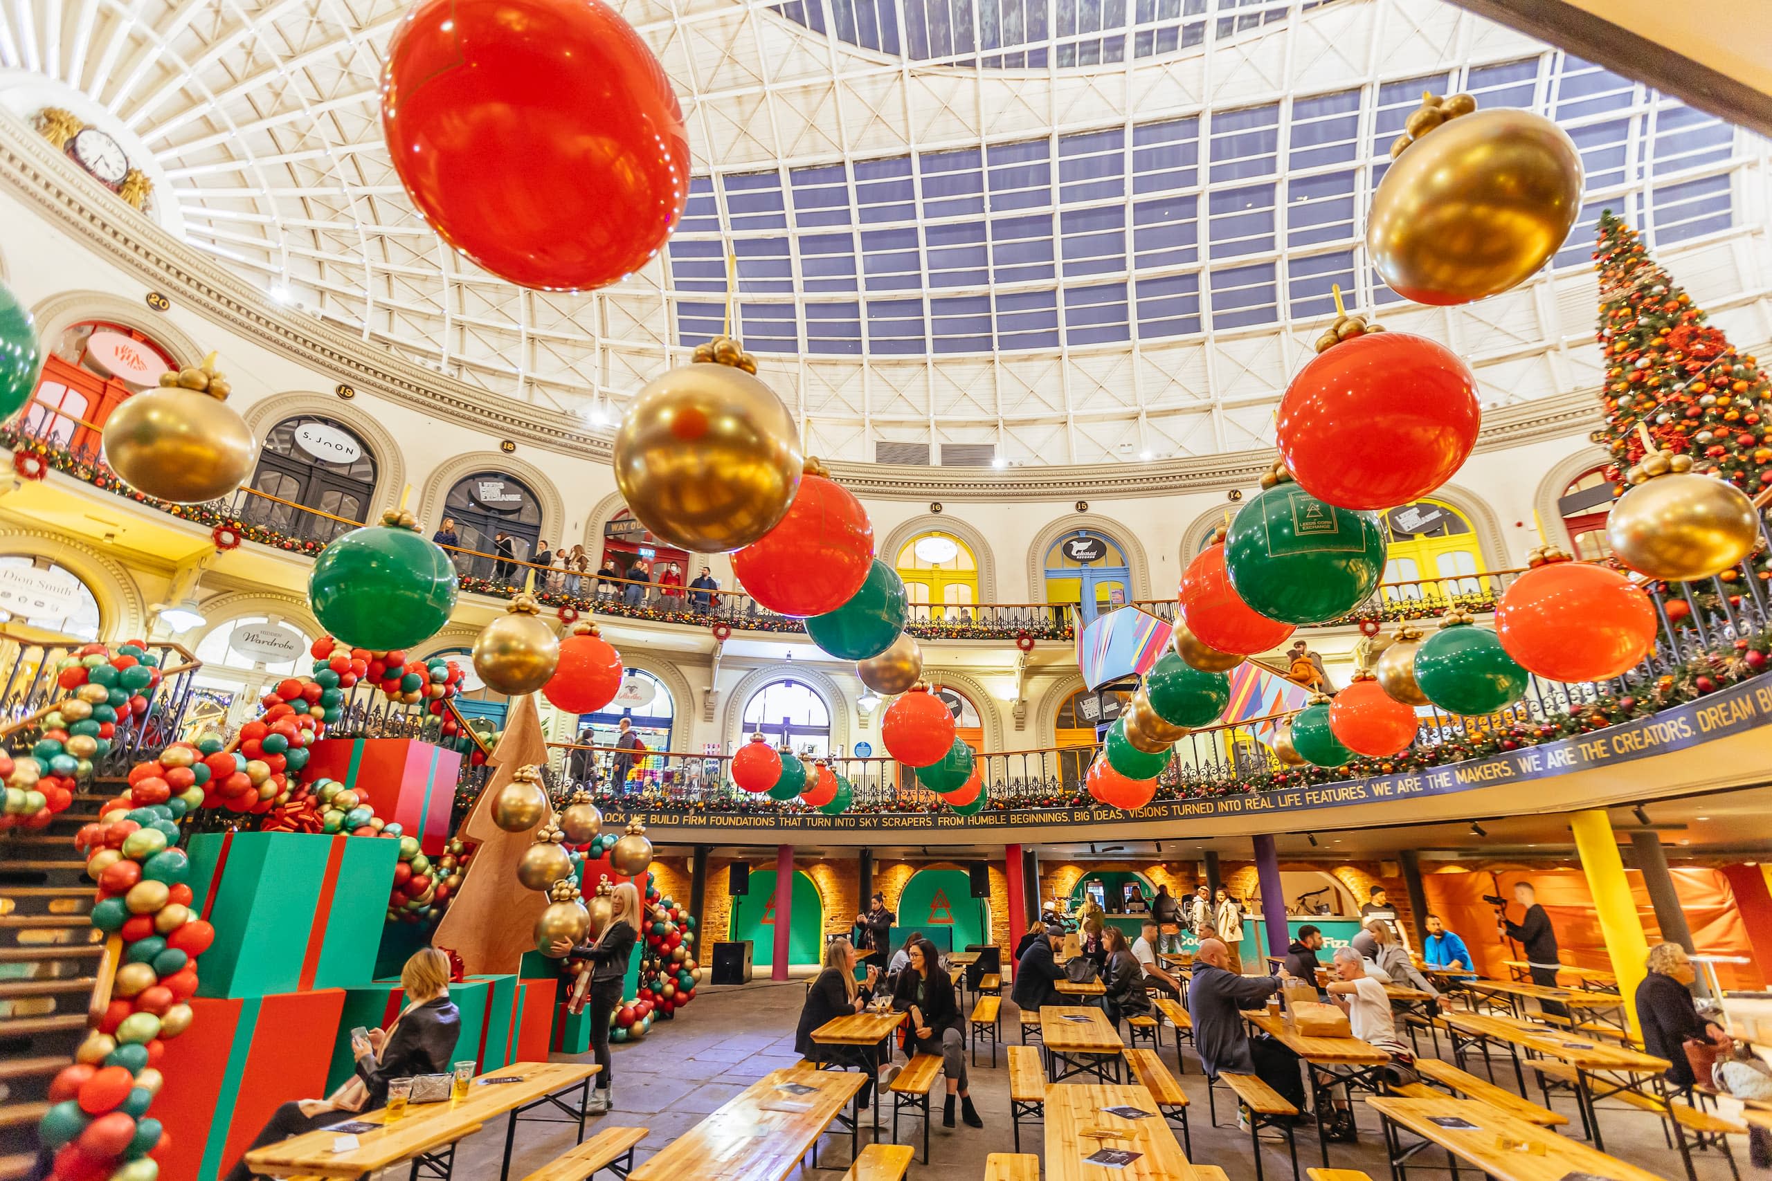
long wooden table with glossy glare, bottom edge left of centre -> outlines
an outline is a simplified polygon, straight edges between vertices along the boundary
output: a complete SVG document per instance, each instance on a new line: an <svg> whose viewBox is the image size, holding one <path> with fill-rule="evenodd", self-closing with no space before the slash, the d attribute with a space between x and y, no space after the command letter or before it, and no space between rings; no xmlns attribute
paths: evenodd
<svg viewBox="0 0 1772 1181"><path fill-rule="evenodd" d="M813 1091L780 1089L794 1084ZM629 1181L783 1181L865 1084L863 1075L813 1066L771 1071L634 1167Z"/></svg>

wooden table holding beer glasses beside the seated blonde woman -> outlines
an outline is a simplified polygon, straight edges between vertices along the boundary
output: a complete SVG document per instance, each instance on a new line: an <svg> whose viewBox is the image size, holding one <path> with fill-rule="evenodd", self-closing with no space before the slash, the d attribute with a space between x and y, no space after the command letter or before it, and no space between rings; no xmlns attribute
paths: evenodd
<svg viewBox="0 0 1772 1181"><path fill-rule="evenodd" d="M358 1131L356 1147L347 1153L335 1153L333 1140L342 1135L321 1128L291 1137L278 1144L246 1153L246 1165L260 1176L292 1177L363 1177L392 1165L413 1160L422 1162L436 1174L448 1176L455 1163L455 1142L480 1130L498 1115L509 1115L505 1126L505 1163L500 1181L510 1174L510 1146L517 1130L517 1117L523 1110L553 1101L569 1115L576 1114L578 1137L585 1139L585 1105L590 1101L590 1078L601 1066L592 1062L512 1062L500 1066L473 1080L466 1100L448 1100L447 1103L409 1103L406 1114L386 1121L385 1110L374 1112L338 1112L333 1123L369 1123L372 1131ZM487 1084L487 1078L516 1078L509 1084ZM576 1112L560 1100L551 1100L556 1091L579 1087L583 1091ZM553 1121L549 1121L553 1123ZM571 1123L571 1121L567 1121ZM447 1147L447 1153L438 1149ZM416 1169L416 1165L415 1165Z"/></svg>

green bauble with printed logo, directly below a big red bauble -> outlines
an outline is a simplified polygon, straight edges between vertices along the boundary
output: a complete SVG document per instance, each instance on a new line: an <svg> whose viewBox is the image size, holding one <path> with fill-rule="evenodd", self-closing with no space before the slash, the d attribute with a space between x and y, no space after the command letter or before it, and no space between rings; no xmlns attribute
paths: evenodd
<svg viewBox="0 0 1772 1181"><path fill-rule="evenodd" d="M1377 590L1384 528L1375 512L1336 508L1295 483L1276 483L1232 519L1224 568L1256 613L1283 623L1322 623Z"/></svg>

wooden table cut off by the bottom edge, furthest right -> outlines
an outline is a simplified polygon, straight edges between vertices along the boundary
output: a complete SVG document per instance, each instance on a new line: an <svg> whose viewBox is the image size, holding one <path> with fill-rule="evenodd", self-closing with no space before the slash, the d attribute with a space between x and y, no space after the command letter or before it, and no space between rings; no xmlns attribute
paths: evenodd
<svg viewBox="0 0 1772 1181"><path fill-rule="evenodd" d="M1547 1131L1476 1100L1368 1096L1366 1103L1384 1119L1384 1140L1393 1170L1425 1149L1426 1144L1437 1144L1446 1149L1448 1156L1476 1165L1478 1172L1488 1174L1496 1181L1563 1181L1570 1174L1588 1174L1607 1181L1659 1181L1660 1177L1660 1174L1607 1156L1598 1147ZM1471 1126L1446 1128L1435 1119L1457 1119ZM1398 1128L1423 1137L1425 1142L1403 1147ZM1508 1147L1508 1144L1529 1144L1533 1151Z"/></svg>

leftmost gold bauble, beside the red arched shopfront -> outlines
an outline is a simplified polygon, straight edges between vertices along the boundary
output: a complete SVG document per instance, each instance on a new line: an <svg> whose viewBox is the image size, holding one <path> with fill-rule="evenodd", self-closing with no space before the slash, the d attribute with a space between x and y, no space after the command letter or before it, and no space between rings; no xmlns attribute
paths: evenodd
<svg viewBox="0 0 1772 1181"><path fill-rule="evenodd" d="M129 487L175 505L227 496L252 475L257 446L239 414L197 390L161 386L105 420L105 462Z"/></svg>

